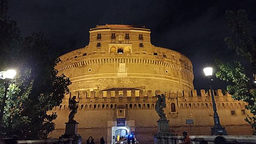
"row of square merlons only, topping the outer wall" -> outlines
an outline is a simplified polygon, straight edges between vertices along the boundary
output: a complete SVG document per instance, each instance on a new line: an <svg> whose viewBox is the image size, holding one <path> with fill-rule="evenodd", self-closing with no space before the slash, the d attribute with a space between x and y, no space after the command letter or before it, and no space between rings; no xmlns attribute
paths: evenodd
<svg viewBox="0 0 256 144"><path fill-rule="evenodd" d="M108 88L105 90L94 91L92 89L87 90L71 90L66 98L72 95L80 98L151 98L158 94L165 93L166 97L179 97L179 98L201 98L211 97L211 90L182 90L177 92L162 92L160 90L145 90L139 88ZM199 94L198 94L199 93ZM226 90L213 90L215 97L231 97Z"/></svg>

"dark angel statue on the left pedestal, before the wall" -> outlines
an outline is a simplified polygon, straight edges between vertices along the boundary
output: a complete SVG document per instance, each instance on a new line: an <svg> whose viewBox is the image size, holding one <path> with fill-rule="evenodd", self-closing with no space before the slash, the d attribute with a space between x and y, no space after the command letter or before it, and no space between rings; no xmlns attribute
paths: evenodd
<svg viewBox="0 0 256 144"><path fill-rule="evenodd" d="M81 98L79 98L80 101ZM72 99L68 99L68 107L70 109L70 114L68 115L68 122L76 122L74 120L75 114L77 113L77 108L78 108L78 102L76 102L76 96L73 96Z"/></svg>

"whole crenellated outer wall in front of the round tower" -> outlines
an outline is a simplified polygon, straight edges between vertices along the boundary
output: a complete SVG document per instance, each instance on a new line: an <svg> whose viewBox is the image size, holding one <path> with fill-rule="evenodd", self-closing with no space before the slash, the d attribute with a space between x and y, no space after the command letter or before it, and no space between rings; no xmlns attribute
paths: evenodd
<svg viewBox="0 0 256 144"><path fill-rule="evenodd" d="M153 142L150 136L157 133L157 113L154 110L156 97L155 93L165 93L166 108L165 113L169 121L172 133L180 134L183 130L189 130L192 135L210 135L210 127L213 125L213 110L211 96L205 90L192 90L181 92L161 92L160 90L144 92L138 90L139 95L135 95L134 90L131 97L124 95L119 96L119 91L107 93L107 97L103 97L102 91L75 91L67 95L60 107L55 107L53 112L57 112L58 119L55 121L56 130L53 137L64 130L64 122L67 122L68 98L70 96L79 96L79 109L75 116L79 124L79 134L85 138L93 136L100 138L108 136L109 122L116 121L117 111L120 105L125 107L125 120L134 121L134 133L139 140ZM197 91L200 93L197 94ZM87 94L86 94L87 93ZM231 95L223 90L215 90L215 102L217 105L218 115L221 125L226 127L229 134L233 135L250 135L250 125L244 121L250 112L245 110L245 102L235 101ZM77 99L78 100L78 99ZM172 104L175 107L172 107ZM242 112L244 110L245 113ZM235 111L232 113L231 111ZM186 119L193 119L194 124L186 124ZM147 131L147 133L145 133ZM242 133L241 133L242 132ZM150 136L148 136L150 135Z"/></svg>

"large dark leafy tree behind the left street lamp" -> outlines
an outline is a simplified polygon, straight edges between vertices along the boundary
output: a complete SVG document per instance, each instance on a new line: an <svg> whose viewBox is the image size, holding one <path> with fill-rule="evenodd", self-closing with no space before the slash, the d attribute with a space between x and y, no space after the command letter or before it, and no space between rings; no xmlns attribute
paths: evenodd
<svg viewBox="0 0 256 144"><path fill-rule="evenodd" d="M6 6L6 0L0 0L0 11L7 11ZM71 82L55 70L60 59L50 57L48 51L49 42L43 33L22 38L15 21L0 15L0 70L10 67L17 70L7 93L2 136L41 139L54 130L52 121L57 115L47 111L61 104ZM3 80L0 85L2 102Z"/></svg>

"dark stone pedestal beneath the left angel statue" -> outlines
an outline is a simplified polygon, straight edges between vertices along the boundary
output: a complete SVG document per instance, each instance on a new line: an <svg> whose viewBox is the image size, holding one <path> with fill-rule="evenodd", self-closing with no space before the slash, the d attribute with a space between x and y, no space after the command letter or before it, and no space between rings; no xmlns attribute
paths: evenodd
<svg viewBox="0 0 256 144"><path fill-rule="evenodd" d="M73 139L72 144L81 144L82 143L82 137L77 134L77 125L78 122L65 122L66 129L64 135L60 136L61 138L69 138Z"/></svg>

